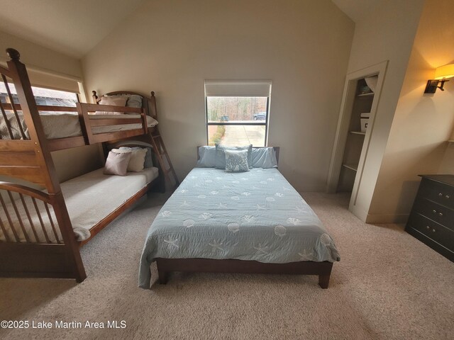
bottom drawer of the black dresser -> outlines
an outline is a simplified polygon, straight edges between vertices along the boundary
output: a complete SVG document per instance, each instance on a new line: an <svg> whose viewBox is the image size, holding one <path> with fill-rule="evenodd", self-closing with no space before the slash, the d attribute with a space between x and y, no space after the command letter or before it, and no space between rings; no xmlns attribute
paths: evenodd
<svg viewBox="0 0 454 340"><path fill-rule="evenodd" d="M445 246L450 251L454 251L454 232L450 229L433 222L423 215L412 213L409 218L409 227L418 230L426 237L433 239L433 241Z"/></svg>

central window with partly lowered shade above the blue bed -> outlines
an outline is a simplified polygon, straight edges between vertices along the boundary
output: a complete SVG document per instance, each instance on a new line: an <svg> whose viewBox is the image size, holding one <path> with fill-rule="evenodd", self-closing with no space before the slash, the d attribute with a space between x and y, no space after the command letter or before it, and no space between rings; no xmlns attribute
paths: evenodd
<svg viewBox="0 0 454 340"><path fill-rule="evenodd" d="M267 144L271 81L205 81L207 144Z"/></svg>

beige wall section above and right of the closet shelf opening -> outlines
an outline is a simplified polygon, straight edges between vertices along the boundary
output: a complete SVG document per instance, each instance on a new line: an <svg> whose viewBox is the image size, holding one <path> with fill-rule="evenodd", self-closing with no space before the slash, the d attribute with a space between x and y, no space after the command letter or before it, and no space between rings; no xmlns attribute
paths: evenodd
<svg viewBox="0 0 454 340"><path fill-rule="evenodd" d="M362 220L367 220L422 8L423 0L383 0L355 26L348 73L389 60L358 188L355 214Z"/></svg>

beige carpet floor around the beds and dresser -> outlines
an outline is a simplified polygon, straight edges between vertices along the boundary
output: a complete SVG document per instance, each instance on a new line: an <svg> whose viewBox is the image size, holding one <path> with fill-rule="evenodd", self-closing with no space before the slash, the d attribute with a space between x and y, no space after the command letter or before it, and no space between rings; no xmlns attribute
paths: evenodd
<svg viewBox="0 0 454 340"><path fill-rule="evenodd" d="M152 194L83 247L83 283L0 279L0 320L30 322L0 329L0 339L454 339L454 263L402 226L360 222L345 195L303 197L341 254L327 290L316 276L211 273L137 288L145 234L165 200ZM55 320L82 328L57 329Z"/></svg>

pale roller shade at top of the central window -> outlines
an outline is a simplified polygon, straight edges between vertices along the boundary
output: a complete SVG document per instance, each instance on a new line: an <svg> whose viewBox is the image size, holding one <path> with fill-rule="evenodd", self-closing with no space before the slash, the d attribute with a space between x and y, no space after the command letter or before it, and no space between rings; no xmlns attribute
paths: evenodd
<svg viewBox="0 0 454 340"><path fill-rule="evenodd" d="M214 97L268 97L270 80L206 80L205 96Z"/></svg>

